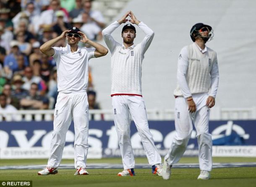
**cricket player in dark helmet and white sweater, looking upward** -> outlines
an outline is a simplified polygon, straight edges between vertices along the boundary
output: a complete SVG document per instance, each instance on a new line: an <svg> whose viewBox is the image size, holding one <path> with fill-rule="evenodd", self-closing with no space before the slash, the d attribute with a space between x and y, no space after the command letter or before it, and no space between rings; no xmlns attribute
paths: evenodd
<svg viewBox="0 0 256 187"><path fill-rule="evenodd" d="M209 112L215 105L219 85L217 55L205 43L212 39L211 26L195 24L191 29L190 44L181 49L178 59L178 86L175 96L176 135L165 156L163 179L169 179L171 166L176 164L188 145L193 124L199 146L200 175L198 179L209 179L212 170L212 136L209 134ZM193 124L192 124L193 123Z"/></svg>

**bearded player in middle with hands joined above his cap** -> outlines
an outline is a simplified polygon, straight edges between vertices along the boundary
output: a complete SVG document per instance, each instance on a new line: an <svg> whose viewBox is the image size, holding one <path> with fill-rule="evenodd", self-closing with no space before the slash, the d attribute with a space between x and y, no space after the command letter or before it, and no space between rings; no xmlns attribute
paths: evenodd
<svg viewBox="0 0 256 187"><path fill-rule="evenodd" d="M111 36L120 24L128 21L128 16L131 18L129 21L135 23L146 34L140 44L133 44L136 29L131 24L125 25L122 29L123 44L116 42ZM112 107L124 167L118 176L135 175L135 161L130 138L131 117L141 137L149 164L152 165L152 173L161 175L161 157L149 131L141 92L142 60L152 42L154 32L146 24L138 21L131 11L128 11L120 20L104 29L102 34L111 52Z"/></svg>

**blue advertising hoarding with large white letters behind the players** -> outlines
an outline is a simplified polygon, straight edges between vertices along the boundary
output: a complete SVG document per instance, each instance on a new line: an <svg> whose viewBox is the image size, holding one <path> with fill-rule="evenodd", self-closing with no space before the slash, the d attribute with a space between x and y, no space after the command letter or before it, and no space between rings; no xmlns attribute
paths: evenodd
<svg viewBox="0 0 256 187"><path fill-rule="evenodd" d="M160 154L165 154L175 135L174 121L149 121L149 128ZM49 150L52 130L52 122L1 122L0 149L44 148ZM210 121L209 132L212 133L214 145L256 145L256 120ZM131 123L131 142L135 155L143 155L143 146L133 122ZM72 123L67 133L65 147L72 148L73 143L74 127ZM89 146L92 150L101 150L103 157L119 156L118 137L114 122L90 121ZM188 142L188 149L196 148L196 131L193 130ZM161 152L161 150L165 151Z"/></svg>

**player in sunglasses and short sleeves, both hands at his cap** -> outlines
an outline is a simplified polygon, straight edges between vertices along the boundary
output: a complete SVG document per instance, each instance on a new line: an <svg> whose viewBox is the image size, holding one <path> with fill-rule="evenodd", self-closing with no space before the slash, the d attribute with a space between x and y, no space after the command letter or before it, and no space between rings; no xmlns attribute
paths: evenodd
<svg viewBox="0 0 256 187"><path fill-rule="evenodd" d="M67 39L66 47L52 47L58 41ZM78 42L89 44L93 48L79 47ZM40 50L53 56L57 64L58 96L55 105L50 158L47 167L39 175L56 174L63 154L66 133L73 118L75 128L75 174L89 174L86 167L88 153L89 104L86 94L88 85L88 61L93 57L102 57L108 50L92 42L87 36L73 27L48 42Z"/></svg>

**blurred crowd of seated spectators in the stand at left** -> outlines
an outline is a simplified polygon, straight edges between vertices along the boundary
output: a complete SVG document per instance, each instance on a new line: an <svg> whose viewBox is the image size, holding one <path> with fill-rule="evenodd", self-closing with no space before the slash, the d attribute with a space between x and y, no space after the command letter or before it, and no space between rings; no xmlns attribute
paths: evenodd
<svg viewBox="0 0 256 187"><path fill-rule="evenodd" d="M39 47L72 26L91 40L101 40L104 17L91 6L92 0L0 1L0 111L54 109L56 63ZM65 45L62 40L55 46ZM81 42L79 46L90 47ZM99 109L93 89L90 69L89 107Z"/></svg>

